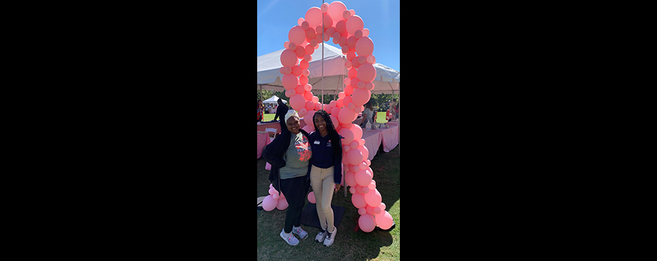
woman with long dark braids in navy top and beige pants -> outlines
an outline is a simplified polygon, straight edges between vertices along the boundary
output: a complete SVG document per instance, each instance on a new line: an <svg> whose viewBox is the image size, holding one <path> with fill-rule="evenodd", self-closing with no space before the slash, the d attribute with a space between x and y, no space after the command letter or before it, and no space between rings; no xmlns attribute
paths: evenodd
<svg viewBox="0 0 657 261"><path fill-rule="evenodd" d="M331 117L323 109L315 112L312 121L315 131L309 135L312 147L310 185L315 194L317 215L321 225L321 231L315 237L315 241L329 246L333 244L338 231L333 226L331 200L333 193L340 190L342 181L342 136L338 135Z"/></svg>

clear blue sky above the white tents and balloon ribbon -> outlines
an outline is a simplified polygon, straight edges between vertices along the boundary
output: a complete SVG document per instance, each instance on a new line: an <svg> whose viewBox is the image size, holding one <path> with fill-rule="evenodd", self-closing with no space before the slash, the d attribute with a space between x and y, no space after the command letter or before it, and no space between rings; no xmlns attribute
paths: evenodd
<svg viewBox="0 0 657 261"><path fill-rule="evenodd" d="M324 1L331 4L333 1ZM374 42L377 63L397 71L399 68L399 1L398 0L341 0L347 9L354 9L369 29L369 38ZM321 1L309 0L258 0L258 56L283 49L288 41L290 28ZM333 44L333 38L324 44Z"/></svg>

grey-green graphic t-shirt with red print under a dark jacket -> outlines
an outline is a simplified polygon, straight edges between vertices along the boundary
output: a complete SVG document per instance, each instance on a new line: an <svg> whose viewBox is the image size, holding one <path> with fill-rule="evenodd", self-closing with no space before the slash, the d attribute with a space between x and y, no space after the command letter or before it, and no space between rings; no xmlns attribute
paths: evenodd
<svg viewBox="0 0 657 261"><path fill-rule="evenodd" d="M285 166L280 168L280 179L306 176L312 150L310 142L303 133L292 134L285 157Z"/></svg>

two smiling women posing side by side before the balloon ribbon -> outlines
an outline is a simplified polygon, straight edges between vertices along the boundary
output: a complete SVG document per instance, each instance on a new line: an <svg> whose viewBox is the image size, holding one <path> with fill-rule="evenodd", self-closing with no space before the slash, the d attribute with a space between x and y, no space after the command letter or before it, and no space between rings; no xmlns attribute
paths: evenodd
<svg viewBox="0 0 657 261"><path fill-rule="evenodd" d="M331 200L342 180L342 137L326 111L316 111L312 117L315 131L307 133L300 126L298 114L289 110L285 114L287 128L264 148L262 155L271 164L269 180L273 187L288 200L280 237L290 245L299 243L295 234L307 238L308 233L301 229L301 210L312 185L322 229L315 241L328 246L333 244L337 232Z"/></svg>

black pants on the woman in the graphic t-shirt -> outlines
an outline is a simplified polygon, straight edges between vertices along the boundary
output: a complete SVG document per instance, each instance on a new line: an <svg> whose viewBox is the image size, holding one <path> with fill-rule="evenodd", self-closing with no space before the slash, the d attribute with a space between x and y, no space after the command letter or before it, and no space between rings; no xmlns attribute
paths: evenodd
<svg viewBox="0 0 657 261"><path fill-rule="evenodd" d="M306 203L306 194L310 181L306 176L280 180L280 190L288 200L288 212L285 214L285 233L292 232L292 226L301 226L301 210Z"/></svg>

